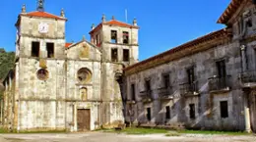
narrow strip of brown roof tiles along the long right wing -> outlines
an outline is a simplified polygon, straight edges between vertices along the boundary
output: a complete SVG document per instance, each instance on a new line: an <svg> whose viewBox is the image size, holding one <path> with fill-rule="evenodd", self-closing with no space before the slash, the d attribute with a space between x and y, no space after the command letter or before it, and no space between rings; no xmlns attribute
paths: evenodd
<svg viewBox="0 0 256 142"><path fill-rule="evenodd" d="M143 71L143 70L147 70L149 68L152 68L154 66L160 66L161 64L164 64L165 62L162 62L163 59L165 59L166 57L171 57L172 55L174 55L175 53L182 53L185 49L190 49L192 47L194 47L195 45L198 45L200 43L205 43L207 41L211 41L214 39L220 39L220 38L224 38L227 35L227 31L225 29L221 29L215 32L211 32L207 35L204 35L202 37L199 37L195 40L189 41L185 44L182 44L180 46L177 46L175 48L172 48L168 51L165 51L163 53L160 53L159 55L156 55L152 58L149 58L147 60L144 60L142 62L139 62L135 65L132 65L130 67L127 67L124 69L124 71L130 71L130 70L135 70L135 71ZM184 56L184 55L183 55ZM173 59L167 59L168 62L170 62ZM154 63L154 64L153 64Z"/></svg>

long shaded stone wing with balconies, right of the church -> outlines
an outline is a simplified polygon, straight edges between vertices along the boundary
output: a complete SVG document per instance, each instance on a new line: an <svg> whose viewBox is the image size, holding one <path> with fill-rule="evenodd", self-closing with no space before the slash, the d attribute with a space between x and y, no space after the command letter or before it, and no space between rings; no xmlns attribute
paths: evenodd
<svg viewBox="0 0 256 142"><path fill-rule="evenodd" d="M231 0L224 29L126 68L126 120L256 132L256 5Z"/></svg>

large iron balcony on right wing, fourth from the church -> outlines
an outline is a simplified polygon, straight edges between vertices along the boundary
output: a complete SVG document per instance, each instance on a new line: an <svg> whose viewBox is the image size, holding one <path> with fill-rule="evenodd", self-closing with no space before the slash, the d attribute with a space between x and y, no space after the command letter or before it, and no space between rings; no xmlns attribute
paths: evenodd
<svg viewBox="0 0 256 142"><path fill-rule="evenodd" d="M214 76L209 78L209 89L210 91L229 90L231 87L230 75L219 77Z"/></svg>

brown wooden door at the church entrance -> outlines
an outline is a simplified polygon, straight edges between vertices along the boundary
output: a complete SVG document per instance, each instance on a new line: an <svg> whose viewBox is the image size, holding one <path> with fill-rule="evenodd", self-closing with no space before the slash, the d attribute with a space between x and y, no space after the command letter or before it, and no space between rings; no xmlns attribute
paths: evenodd
<svg viewBox="0 0 256 142"><path fill-rule="evenodd" d="M91 118L90 109L78 110L78 130L79 131L90 130L90 121L91 121L90 118Z"/></svg>

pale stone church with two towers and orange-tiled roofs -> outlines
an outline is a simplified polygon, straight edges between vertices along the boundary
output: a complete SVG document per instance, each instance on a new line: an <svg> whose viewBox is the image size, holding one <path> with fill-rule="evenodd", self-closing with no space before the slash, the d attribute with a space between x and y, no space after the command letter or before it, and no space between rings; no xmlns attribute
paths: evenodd
<svg viewBox="0 0 256 142"><path fill-rule="evenodd" d="M92 26L91 42L65 40L60 16L19 15L16 64L5 85L2 122L13 130L94 130L124 122L123 68L138 62L138 29L112 18Z"/></svg>

